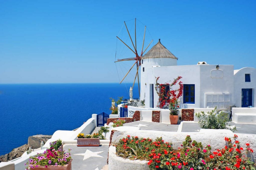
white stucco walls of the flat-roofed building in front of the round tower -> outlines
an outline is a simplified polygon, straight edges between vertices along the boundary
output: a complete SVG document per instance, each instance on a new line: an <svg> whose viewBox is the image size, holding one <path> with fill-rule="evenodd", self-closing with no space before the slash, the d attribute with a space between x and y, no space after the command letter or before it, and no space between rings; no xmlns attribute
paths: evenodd
<svg viewBox="0 0 256 170"><path fill-rule="evenodd" d="M195 84L195 104L183 104L183 96L180 98L181 108L205 108L206 94L218 94L217 102L212 102L220 108L229 108L233 101L233 65L219 65L220 69L216 69L216 65L188 65L188 66L167 66L148 68L148 74L145 75L145 83L141 83L141 88L145 89L145 108L152 107L150 105L151 87L155 86L156 78L159 76L158 83L172 83L177 76L182 76L183 84ZM173 89L178 89L178 84ZM154 108L157 106L158 95L153 89ZM223 99L225 97L225 100ZM220 101L219 101L220 100ZM223 101L222 101L223 100ZM227 100L227 101L226 101ZM215 100L213 100L215 101ZM208 102L209 103L209 102Z"/></svg>

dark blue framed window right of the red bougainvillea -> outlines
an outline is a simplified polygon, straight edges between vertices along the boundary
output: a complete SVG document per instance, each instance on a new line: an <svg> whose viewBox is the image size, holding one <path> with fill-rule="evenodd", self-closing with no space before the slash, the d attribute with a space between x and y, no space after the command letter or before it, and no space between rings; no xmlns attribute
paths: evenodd
<svg viewBox="0 0 256 170"><path fill-rule="evenodd" d="M195 85L183 85L183 103L195 104Z"/></svg>

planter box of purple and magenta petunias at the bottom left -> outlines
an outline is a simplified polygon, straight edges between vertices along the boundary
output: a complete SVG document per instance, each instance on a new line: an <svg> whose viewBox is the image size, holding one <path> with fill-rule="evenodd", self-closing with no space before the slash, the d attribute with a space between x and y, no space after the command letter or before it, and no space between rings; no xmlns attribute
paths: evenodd
<svg viewBox="0 0 256 170"><path fill-rule="evenodd" d="M44 153L38 153L35 156L30 156L26 163L28 169L49 169L49 170L71 170L71 154L62 150L55 150L53 148L47 149Z"/></svg>

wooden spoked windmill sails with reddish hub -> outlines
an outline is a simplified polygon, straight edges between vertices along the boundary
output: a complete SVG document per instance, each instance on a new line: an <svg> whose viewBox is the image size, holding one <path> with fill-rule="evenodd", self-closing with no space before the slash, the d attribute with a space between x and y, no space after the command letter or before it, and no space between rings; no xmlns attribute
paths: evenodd
<svg viewBox="0 0 256 170"><path fill-rule="evenodd" d="M135 57L131 57L131 58L124 58L124 59L118 59L116 60L115 62L121 62L121 61L135 61L133 63L133 65L131 66L131 68L129 69L129 71L125 74L125 76L123 77L123 79L121 80L120 84L123 82L123 80L125 79L125 77L129 74L129 72L132 70L132 68L136 65L136 75L134 77L134 81L133 81L133 85L132 85L132 88L134 87L134 84L135 84L135 81L136 81L136 78L138 80L138 90L139 90L139 95L140 95L140 83L139 83L139 75L138 75L138 70L141 66L141 60L142 60L142 56L143 54L145 53L145 51L147 50L147 48L150 46L150 44L153 42L153 40L151 40L151 42L148 44L148 46L144 48L144 41L145 41L145 33L146 33L146 26L145 26L145 29L144 29L144 36L143 36L143 42L142 42L142 49L141 49L141 53L140 55L138 55L138 52L137 52L137 41L136 41L136 18L135 18L135 41L132 40L132 37L131 37L131 34L127 28L127 25L124 21L124 25L125 25L125 28L127 30L127 33L130 37L130 40L131 40L131 43L132 43L132 47L130 47L129 45L127 45L124 41L121 40L121 38L119 38L118 36L116 36L116 38L118 38L118 40L120 40L127 48L129 48L135 55Z"/></svg>

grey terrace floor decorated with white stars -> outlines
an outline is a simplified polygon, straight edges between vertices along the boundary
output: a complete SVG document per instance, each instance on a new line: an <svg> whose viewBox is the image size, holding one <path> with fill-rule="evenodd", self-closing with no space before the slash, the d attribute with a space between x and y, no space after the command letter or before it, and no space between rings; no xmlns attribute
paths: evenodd
<svg viewBox="0 0 256 170"><path fill-rule="evenodd" d="M256 134L256 124L236 124L233 122L230 122L230 124L237 127L236 133ZM141 130L165 132L198 132L200 130L198 123L194 122L182 122L178 125L171 125L167 123L137 121L125 123L124 126L140 127ZM64 150L68 150L68 148L72 149L72 169L100 170L106 165L108 144L103 144L99 147L77 147L75 144L64 145ZM108 168L105 166L104 169L106 170Z"/></svg>

